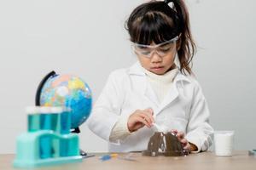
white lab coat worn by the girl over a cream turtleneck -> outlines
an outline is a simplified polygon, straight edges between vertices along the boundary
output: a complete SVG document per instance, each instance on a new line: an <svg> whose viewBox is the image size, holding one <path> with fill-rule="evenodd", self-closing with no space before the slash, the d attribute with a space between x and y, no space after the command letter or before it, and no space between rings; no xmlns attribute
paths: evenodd
<svg viewBox="0 0 256 170"><path fill-rule="evenodd" d="M108 150L128 152L146 150L153 128L143 127L125 140L109 141L110 133L121 116L130 116L136 110L152 108L155 122L186 133L185 138L199 151L212 144L213 129L209 125L207 101L194 77L181 72L173 80L166 98L159 103L153 88L137 62L128 69L113 71L102 94L93 107L88 127L108 141Z"/></svg>

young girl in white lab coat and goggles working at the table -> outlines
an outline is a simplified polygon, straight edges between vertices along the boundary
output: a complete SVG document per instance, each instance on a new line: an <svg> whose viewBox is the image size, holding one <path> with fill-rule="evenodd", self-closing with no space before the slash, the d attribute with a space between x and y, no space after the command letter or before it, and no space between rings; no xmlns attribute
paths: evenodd
<svg viewBox="0 0 256 170"><path fill-rule="evenodd" d="M183 0L143 3L131 13L127 30L139 62L110 74L90 130L108 141L109 151L141 151L156 123L176 133L184 150L207 150L213 129L207 101L191 76L195 43Z"/></svg>

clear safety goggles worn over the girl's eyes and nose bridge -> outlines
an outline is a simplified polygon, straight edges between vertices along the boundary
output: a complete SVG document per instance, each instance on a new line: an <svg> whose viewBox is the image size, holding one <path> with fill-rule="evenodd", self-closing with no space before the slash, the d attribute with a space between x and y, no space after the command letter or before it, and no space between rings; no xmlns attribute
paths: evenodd
<svg viewBox="0 0 256 170"><path fill-rule="evenodd" d="M177 39L178 37L174 37L169 41L161 42L156 45L143 45L136 42L132 42L131 47L133 48L136 54L144 56L148 59L152 57L152 54L154 54L154 52L160 55L160 57L164 57L175 47L174 42L176 42Z"/></svg>

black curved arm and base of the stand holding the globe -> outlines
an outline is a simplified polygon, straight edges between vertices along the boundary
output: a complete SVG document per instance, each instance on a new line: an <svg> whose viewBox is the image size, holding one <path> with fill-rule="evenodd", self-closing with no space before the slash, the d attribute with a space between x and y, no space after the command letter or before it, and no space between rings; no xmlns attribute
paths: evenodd
<svg viewBox="0 0 256 170"><path fill-rule="evenodd" d="M40 106L40 96L41 96L41 91L42 88L44 87L44 83L47 82L47 80L49 79L49 77L54 77L57 74L55 73L55 71L50 71L43 79L42 81L39 83L38 85L38 89L37 89L37 93L36 93L36 98L35 98L35 104L37 106ZM74 130L71 133L80 133L80 129L79 127L75 127ZM94 155L88 155L86 152L84 152L84 150L79 150L80 152L80 156L83 156L83 158L86 157L90 157L90 156L94 156Z"/></svg>

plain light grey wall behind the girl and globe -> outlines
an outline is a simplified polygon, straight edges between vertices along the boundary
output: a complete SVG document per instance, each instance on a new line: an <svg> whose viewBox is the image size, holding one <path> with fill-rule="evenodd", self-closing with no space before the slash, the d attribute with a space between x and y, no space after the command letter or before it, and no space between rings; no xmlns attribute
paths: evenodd
<svg viewBox="0 0 256 170"><path fill-rule="evenodd" d="M130 66L125 20L143 0L0 1L0 154L15 152L27 105L49 71L82 77L100 94L110 71ZM212 126L236 131L235 148L256 147L256 2L187 0L200 46L194 60ZM107 151L84 123L81 148Z"/></svg>

